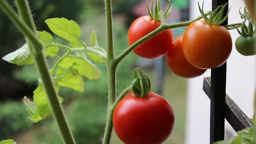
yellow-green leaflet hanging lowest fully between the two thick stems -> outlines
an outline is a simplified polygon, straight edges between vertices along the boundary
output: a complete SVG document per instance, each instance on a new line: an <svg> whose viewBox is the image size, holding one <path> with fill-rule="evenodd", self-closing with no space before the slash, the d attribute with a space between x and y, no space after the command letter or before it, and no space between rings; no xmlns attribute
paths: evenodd
<svg viewBox="0 0 256 144"><path fill-rule="evenodd" d="M56 71L56 75L59 86L69 87L79 92L84 91L83 77L76 69L59 68Z"/></svg>

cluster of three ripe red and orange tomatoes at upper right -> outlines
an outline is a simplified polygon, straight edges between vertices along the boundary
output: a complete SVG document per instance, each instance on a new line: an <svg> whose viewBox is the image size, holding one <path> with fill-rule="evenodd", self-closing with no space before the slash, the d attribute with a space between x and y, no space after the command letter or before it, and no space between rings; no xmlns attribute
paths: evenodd
<svg viewBox="0 0 256 144"><path fill-rule="evenodd" d="M150 16L136 19L128 32L129 44L157 29L160 24ZM225 27L198 20L174 41L172 30L165 30L140 44L133 52L143 58L158 58L167 53L166 61L171 71L181 77L193 78L202 75L206 69L223 65L231 49L231 36Z"/></svg>

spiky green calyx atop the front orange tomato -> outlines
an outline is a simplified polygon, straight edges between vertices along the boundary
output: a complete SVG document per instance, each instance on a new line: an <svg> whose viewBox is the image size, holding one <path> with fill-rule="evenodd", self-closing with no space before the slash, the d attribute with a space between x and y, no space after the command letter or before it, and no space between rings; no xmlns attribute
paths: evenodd
<svg viewBox="0 0 256 144"><path fill-rule="evenodd" d="M202 8L200 7L199 2L197 2L197 4L198 4L199 11L200 11L200 13L202 14L202 16L203 16L203 18L204 18L204 21L206 21L208 24L220 25L220 24L222 24L223 22L225 22L225 20L227 19L227 16L229 15L230 8L229 8L229 10L227 11L227 14L225 15L225 17L222 18L222 17L223 17L223 14L224 14L225 7L227 6L227 3L224 4L224 5L219 5L219 6L210 14L209 17L207 17L207 15L205 15L205 14L204 14L204 11L203 11L204 1L203 1L203 4L202 4Z"/></svg>

